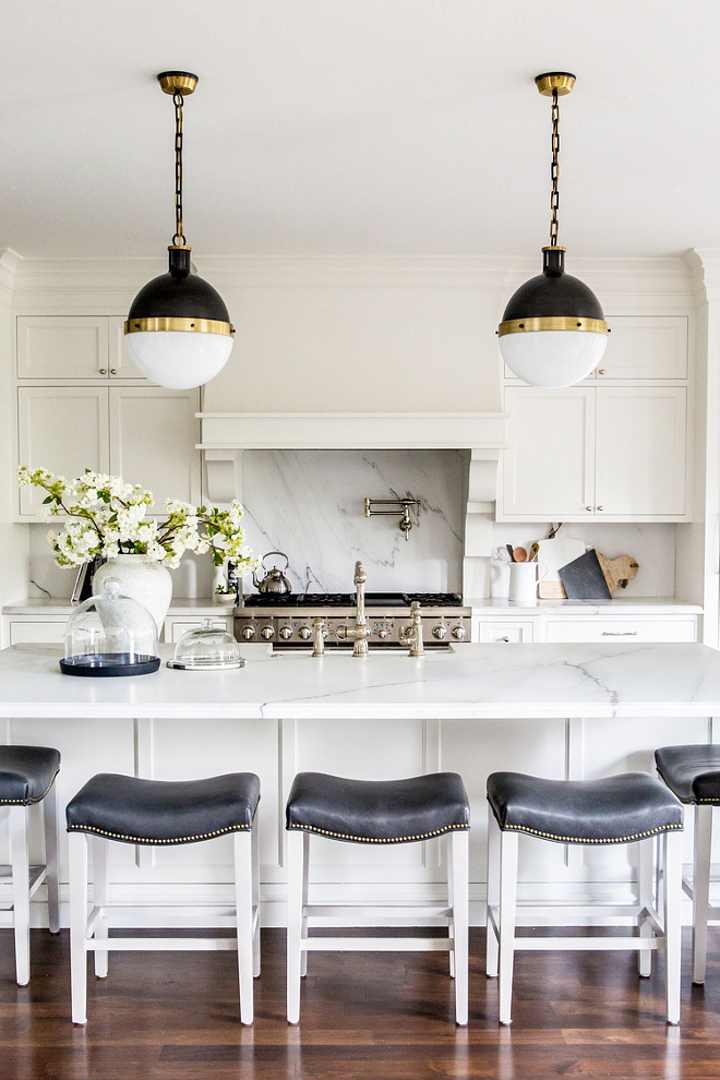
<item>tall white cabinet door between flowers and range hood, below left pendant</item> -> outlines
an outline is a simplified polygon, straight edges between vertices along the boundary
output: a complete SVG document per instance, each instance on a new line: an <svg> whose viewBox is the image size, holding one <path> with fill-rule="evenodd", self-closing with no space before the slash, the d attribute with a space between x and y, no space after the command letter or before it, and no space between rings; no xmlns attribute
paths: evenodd
<svg viewBox="0 0 720 1080"><path fill-rule="evenodd" d="M166 499L200 502L200 392L164 386L112 386L110 468L153 492L153 512Z"/></svg>

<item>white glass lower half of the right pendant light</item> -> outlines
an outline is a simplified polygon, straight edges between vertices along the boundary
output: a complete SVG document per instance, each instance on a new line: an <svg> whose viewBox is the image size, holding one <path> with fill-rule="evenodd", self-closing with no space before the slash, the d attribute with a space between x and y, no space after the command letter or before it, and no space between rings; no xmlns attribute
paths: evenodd
<svg viewBox="0 0 720 1080"><path fill-rule="evenodd" d="M500 338L503 360L531 386L572 386L597 368L607 334L592 331L524 331Z"/></svg>

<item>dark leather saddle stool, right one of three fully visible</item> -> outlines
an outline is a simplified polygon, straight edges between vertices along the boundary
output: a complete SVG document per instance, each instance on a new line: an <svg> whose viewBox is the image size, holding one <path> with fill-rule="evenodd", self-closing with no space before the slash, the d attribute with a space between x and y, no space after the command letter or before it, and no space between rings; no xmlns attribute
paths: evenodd
<svg viewBox="0 0 720 1080"><path fill-rule="evenodd" d="M500 973L500 1021L511 1022L513 961L516 949L637 949L641 975L650 974L652 949L665 951L665 1005L669 1023L680 1022L680 902L683 807L647 772L627 772L602 780L544 780L519 772L488 778L488 955L487 972ZM637 900L591 904L589 913L632 915L637 936L535 937L516 934L518 837L564 844L639 843ZM664 867L662 914L655 908L652 845L662 840ZM523 904L524 915L556 914L566 925L561 903ZM577 913L574 907L573 914ZM547 922L547 919L543 920ZM635 931L636 927L633 927Z"/></svg>

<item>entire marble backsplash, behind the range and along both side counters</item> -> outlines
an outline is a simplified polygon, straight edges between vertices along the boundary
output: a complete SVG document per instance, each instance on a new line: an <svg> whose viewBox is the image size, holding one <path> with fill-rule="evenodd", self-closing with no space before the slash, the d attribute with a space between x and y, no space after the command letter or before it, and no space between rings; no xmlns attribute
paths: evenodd
<svg viewBox="0 0 720 1080"><path fill-rule="evenodd" d="M361 560L369 591L461 592L466 478L467 456L460 451L245 451L238 494L253 553L284 551L293 591L350 592L355 562ZM409 495L420 501L420 515L407 541L398 528L399 509L387 517L364 516L365 496ZM53 597L69 597L75 573L55 565L48 527L29 528L29 576ZM640 569L624 595L639 599L674 596L676 528L583 521L566 524L563 533L610 557L633 555ZM493 550L507 542L529 547L549 529L549 523L495 523ZM209 596L212 571L208 556L185 556L172 574L173 596ZM491 563L489 587L493 597L507 595L506 566ZM28 585L27 595L39 596L39 588ZM249 577L243 588L255 591Z"/></svg>

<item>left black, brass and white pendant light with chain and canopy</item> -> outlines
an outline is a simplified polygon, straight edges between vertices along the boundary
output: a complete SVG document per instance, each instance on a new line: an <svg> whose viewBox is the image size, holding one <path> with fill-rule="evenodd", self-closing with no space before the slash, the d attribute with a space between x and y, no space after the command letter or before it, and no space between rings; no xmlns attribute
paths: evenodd
<svg viewBox="0 0 720 1080"><path fill-rule="evenodd" d="M188 388L206 383L225 365L235 329L223 298L192 273L182 231L182 101L195 89L197 76L164 71L157 77L175 104L176 231L167 274L148 281L132 302L125 340L144 375L160 386Z"/></svg>

